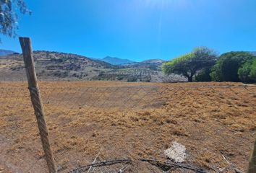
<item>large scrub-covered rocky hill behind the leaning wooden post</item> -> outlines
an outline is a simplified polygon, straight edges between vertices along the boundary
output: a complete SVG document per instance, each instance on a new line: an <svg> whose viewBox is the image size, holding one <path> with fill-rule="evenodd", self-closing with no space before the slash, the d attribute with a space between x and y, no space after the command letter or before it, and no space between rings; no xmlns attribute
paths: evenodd
<svg viewBox="0 0 256 173"><path fill-rule="evenodd" d="M98 71L114 68L111 64L71 53L34 51L35 68L41 79L91 79ZM1 78L25 77L22 55L0 57Z"/></svg>

